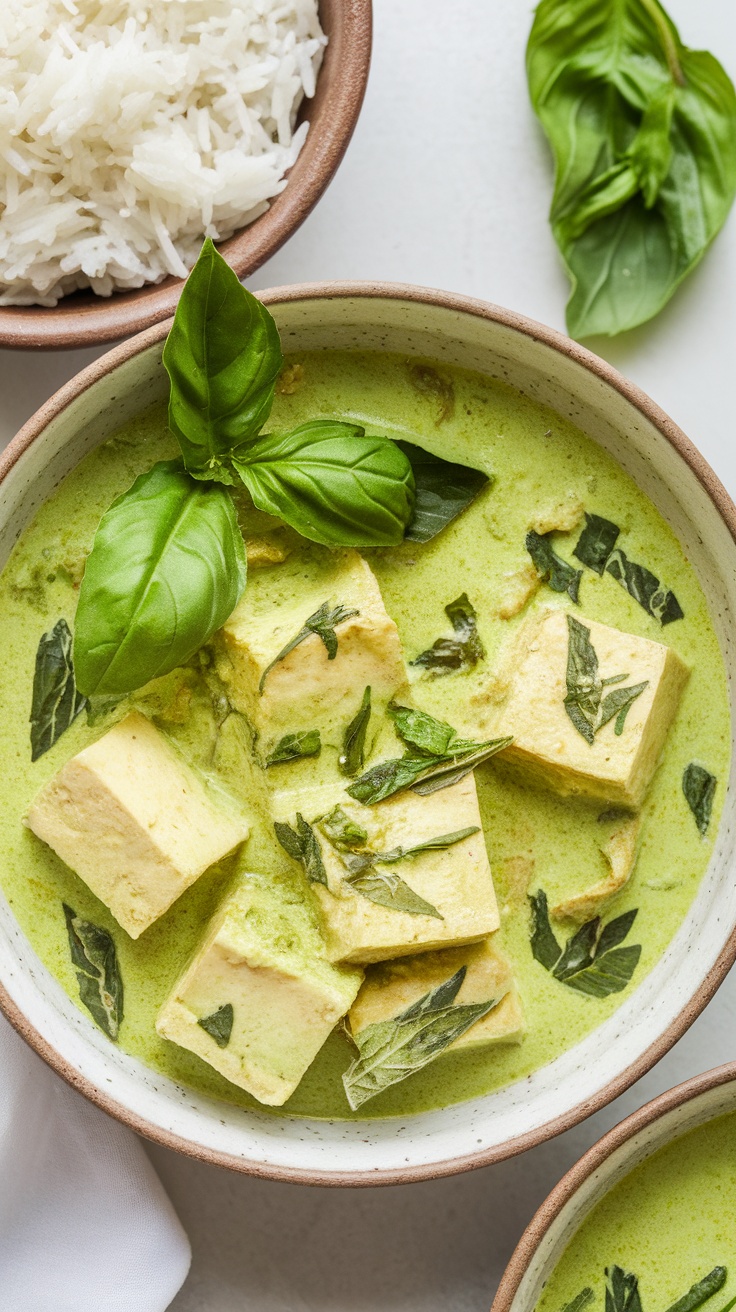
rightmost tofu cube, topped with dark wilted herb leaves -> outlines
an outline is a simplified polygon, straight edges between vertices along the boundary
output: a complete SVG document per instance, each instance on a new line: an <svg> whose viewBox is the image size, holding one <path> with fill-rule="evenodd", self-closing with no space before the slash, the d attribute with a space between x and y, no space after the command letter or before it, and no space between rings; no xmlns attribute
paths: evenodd
<svg viewBox="0 0 736 1312"><path fill-rule="evenodd" d="M623 729L615 716L589 743L565 710L568 664L567 610L542 610L521 630L509 661L509 694L493 731L513 735L504 757L523 765L559 792L642 806L657 768L669 726L689 678L687 666L664 643L624 634L584 615L598 657L598 677L626 676L614 689L645 682L631 703Z"/></svg>

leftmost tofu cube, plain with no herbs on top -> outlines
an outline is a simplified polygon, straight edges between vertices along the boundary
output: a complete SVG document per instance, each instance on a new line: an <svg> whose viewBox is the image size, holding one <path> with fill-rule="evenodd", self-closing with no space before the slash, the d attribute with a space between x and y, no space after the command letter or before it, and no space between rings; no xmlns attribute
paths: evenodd
<svg viewBox="0 0 736 1312"><path fill-rule="evenodd" d="M215 861L248 837L134 711L59 770L26 823L138 938Z"/></svg>

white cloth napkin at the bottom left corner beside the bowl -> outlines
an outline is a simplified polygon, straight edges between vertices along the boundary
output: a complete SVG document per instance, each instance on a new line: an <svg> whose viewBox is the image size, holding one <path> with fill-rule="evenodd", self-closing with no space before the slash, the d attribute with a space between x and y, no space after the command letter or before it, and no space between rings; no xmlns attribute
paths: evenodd
<svg viewBox="0 0 736 1312"><path fill-rule="evenodd" d="M3 1312L164 1312L189 1240L140 1141L0 1015Z"/></svg>

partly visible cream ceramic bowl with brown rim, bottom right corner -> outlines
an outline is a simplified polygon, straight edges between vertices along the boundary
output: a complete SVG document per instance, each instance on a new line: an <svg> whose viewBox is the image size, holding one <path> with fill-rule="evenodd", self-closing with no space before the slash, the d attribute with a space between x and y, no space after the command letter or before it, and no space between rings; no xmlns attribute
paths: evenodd
<svg viewBox="0 0 736 1312"><path fill-rule="evenodd" d="M615 1126L563 1176L526 1227L491 1312L534 1312L575 1232L597 1203L673 1139L736 1110L736 1061L668 1089Z"/></svg>

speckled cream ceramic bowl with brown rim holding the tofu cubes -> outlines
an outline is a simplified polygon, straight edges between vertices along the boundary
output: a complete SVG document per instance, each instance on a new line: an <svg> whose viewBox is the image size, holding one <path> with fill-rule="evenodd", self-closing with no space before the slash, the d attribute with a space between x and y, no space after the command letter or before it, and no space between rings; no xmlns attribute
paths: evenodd
<svg viewBox="0 0 736 1312"><path fill-rule="evenodd" d="M684 543L736 670L736 508L684 433L565 337L495 306L401 286L328 283L264 294L286 350L380 349L480 370L573 420L609 450ZM117 346L25 425L0 459L0 563L59 480L167 394L167 324ZM681 1036L736 956L735 787L680 933L610 1019L517 1085L407 1120L317 1122L245 1113L118 1051L35 959L0 901L0 1005L91 1099L171 1148L253 1174L373 1185L451 1174L521 1152L617 1097Z"/></svg>

